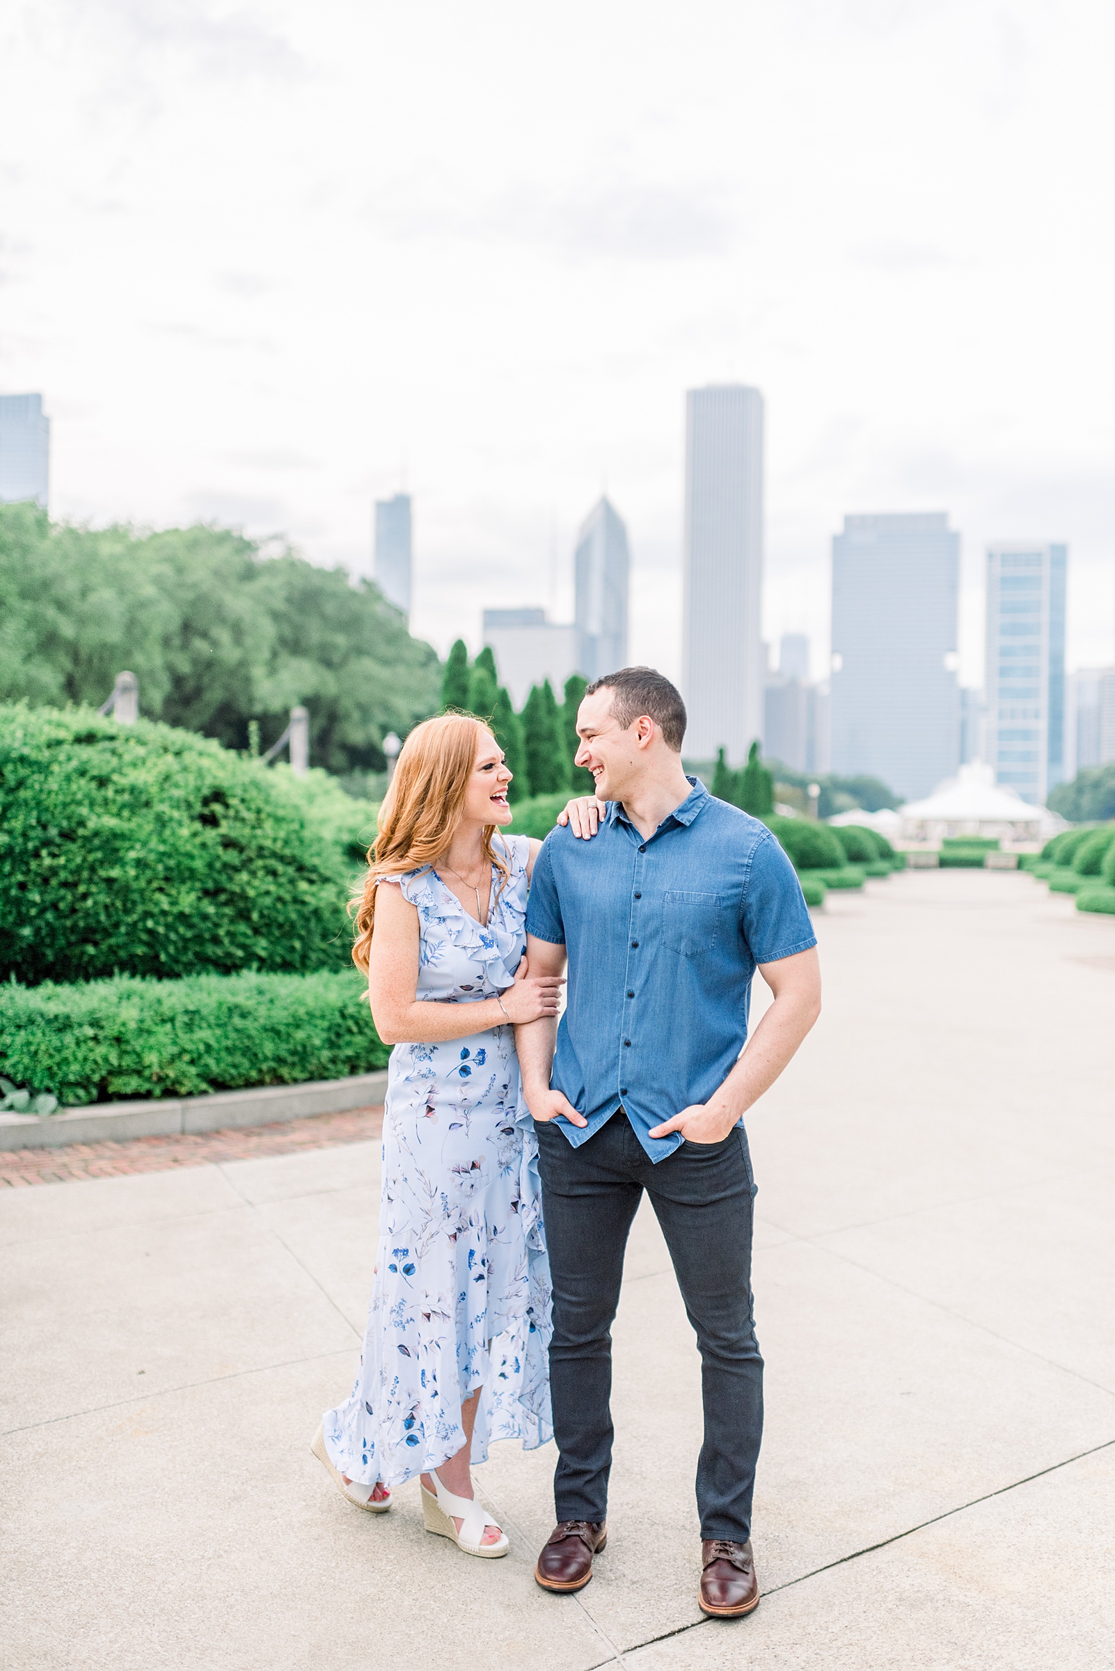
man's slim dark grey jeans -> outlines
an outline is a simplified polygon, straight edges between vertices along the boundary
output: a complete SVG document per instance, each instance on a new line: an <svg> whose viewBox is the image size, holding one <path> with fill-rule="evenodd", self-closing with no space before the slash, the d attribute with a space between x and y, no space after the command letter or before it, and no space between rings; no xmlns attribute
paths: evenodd
<svg viewBox="0 0 1115 1671"><path fill-rule="evenodd" d="M611 1323L628 1232L646 1190L701 1350L701 1537L746 1542L763 1439L763 1359L751 1315L754 1180L743 1130L723 1143L683 1143L658 1165L623 1110L579 1148L552 1123L534 1130L554 1283L549 1379L558 1519L603 1521L608 1514Z"/></svg>

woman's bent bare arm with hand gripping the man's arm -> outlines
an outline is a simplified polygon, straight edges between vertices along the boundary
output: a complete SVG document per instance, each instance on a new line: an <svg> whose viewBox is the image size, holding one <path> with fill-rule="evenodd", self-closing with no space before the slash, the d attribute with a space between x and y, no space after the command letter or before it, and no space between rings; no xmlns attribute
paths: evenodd
<svg viewBox="0 0 1115 1671"><path fill-rule="evenodd" d="M372 1021L384 1044L442 1044L487 1033L506 1021L537 1021L558 1014L561 981L551 976L529 979L526 969L496 998L474 1004L452 999L419 1003L419 921L417 909L402 891L381 882L376 896L376 927L367 959L367 996Z"/></svg>

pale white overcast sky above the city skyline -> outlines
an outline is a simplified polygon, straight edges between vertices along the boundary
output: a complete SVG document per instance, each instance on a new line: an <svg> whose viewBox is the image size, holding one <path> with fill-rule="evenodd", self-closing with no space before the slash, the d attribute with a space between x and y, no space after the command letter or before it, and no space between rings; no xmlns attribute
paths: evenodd
<svg viewBox="0 0 1115 1671"><path fill-rule="evenodd" d="M412 628L571 610L606 486L679 670L684 389L768 414L766 632L828 650L846 511L1070 545L1115 655L1110 0L7 0L0 391L52 510L287 535Z"/></svg>

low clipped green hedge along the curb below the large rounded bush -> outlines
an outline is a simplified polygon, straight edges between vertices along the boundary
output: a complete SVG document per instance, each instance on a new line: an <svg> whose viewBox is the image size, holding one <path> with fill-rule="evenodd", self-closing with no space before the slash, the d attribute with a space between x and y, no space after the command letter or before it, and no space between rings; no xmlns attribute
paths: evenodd
<svg viewBox="0 0 1115 1671"><path fill-rule="evenodd" d="M0 1073L68 1105L337 1079L387 1056L356 969L0 984Z"/></svg>

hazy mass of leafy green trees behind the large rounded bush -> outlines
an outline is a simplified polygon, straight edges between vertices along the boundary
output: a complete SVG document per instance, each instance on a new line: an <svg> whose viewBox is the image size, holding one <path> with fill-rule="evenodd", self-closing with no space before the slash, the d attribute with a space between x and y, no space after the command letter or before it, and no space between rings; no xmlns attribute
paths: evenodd
<svg viewBox="0 0 1115 1671"><path fill-rule="evenodd" d="M304 702L310 759L382 770L382 737L437 707L434 650L369 582L224 528L72 528L0 505L0 698L98 707L124 668L140 710L264 747Z"/></svg>

